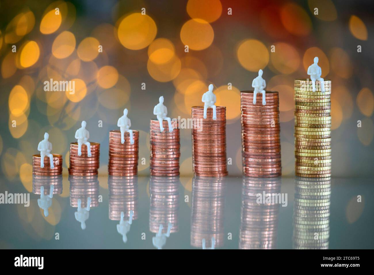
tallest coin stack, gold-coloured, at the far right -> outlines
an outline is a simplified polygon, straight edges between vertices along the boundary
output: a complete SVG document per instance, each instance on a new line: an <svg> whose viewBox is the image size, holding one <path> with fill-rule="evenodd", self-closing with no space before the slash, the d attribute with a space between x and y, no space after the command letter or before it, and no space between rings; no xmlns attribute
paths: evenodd
<svg viewBox="0 0 374 275"><path fill-rule="evenodd" d="M325 92L316 81L295 80L295 175L309 178L331 176L331 81Z"/></svg>

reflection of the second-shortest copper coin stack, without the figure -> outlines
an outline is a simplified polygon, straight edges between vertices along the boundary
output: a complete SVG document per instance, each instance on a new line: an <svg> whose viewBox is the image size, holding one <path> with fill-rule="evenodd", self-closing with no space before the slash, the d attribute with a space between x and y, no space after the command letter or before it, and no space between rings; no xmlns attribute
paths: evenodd
<svg viewBox="0 0 374 275"><path fill-rule="evenodd" d="M70 205L78 207L78 199L81 206L87 206L87 199L91 197L91 207L99 206L99 180L97 176L72 176L70 182Z"/></svg>

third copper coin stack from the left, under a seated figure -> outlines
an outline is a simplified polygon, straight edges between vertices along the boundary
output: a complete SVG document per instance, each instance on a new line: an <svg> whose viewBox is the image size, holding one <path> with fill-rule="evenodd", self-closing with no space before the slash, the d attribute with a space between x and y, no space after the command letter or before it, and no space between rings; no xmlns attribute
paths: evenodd
<svg viewBox="0 0 374 275"><path fill-rule="evenodd" d="M124 133L125 142L121 143L121 132L109 132L108 174L111 176L136 176L139 159L139 131L132 131L134 144L130 144L130 134Z"/></svg>

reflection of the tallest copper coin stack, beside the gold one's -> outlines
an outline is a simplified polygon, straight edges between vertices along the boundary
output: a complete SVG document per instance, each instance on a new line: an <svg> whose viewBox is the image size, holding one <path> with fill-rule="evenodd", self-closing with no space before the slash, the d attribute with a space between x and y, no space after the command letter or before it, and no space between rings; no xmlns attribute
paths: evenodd
<svg viewBox="0 0 374 275"><path fill-rule="evenodd" d="M261 194L281 193L281 178L243 178L240 249L275 249L279 203L257 203ZM265 201L266 202L266 201Z"/></svg>

